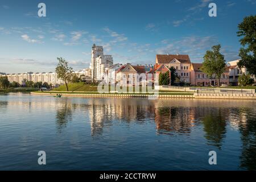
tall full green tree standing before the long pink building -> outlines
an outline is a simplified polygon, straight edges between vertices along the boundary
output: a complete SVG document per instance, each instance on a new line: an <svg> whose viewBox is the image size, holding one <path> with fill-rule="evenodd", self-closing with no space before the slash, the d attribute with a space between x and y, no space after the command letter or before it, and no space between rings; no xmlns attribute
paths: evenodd
<svg viewBox="0 0 256 182"><path fill-rule="evenodd" d="M204 62L201 71L207 73L209 76L215 76L218 82L218 86L220 86L220 78L221 75L225 71L225 60L224 55L220 53L221 45L212 47L212 51L207 51L204 56Z"/></svg>

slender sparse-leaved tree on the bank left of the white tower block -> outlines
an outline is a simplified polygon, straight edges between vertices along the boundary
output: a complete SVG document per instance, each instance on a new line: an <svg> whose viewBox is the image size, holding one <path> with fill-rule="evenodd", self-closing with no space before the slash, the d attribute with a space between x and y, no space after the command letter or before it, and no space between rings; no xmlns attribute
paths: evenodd
<svg viewBox="0 0 256 182"><path fill-rule="evenodd" d="M57 65L55 72L57 73L57 78L64 81L67 91L68 91L68 82L71 82L73 77L73 68L68 67L68 62L62 57L57 57L59 64Z"/></svg>

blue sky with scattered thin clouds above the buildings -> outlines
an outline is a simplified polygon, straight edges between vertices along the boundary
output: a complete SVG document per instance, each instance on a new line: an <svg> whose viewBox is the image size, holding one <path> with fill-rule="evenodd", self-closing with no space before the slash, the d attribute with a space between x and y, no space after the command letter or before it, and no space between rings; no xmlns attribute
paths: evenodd
<svg viewBox="0 0 256 182"><path fill-rule="evenodd" d="M46 3L46 17L38 4ZM209 17L208 5L217 5ZM54 71L62 56L74 69L89 67L93 43L114 63L154 64L156 54L188 54L203 61L220 43L227 61L238 58L237 25L255 15L256 0L239 1L0 1L0 72Z"/></svg>

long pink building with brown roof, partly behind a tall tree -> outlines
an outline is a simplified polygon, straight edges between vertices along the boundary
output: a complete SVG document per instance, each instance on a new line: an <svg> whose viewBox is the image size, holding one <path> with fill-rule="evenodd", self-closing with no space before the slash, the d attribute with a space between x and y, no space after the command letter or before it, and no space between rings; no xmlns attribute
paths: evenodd
<svg viewBox="0 0 256 182"><path fill-rule="evenodd" d="M217 79L210 78L207 76L206 73L202 72L200 70L202 63L192 63L191 64L191 84L196 86L216 86L218 84ZM225 84L229 85L229 69L226 67L224 73L221 76L220 79L220 85Z"/></svg>

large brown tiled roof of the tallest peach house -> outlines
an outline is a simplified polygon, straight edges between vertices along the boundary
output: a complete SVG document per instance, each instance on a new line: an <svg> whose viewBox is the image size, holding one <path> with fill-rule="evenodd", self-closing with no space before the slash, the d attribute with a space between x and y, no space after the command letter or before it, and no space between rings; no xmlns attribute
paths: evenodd
<svg viewBox="0 0 256 182"><path fill-rule="evenodd" d="M190 64L191 61L189 59L188 55L156 55L156 60L158 60L158 63L170 63L172 60L179 60L180 63L188 63Z"/></svg>

